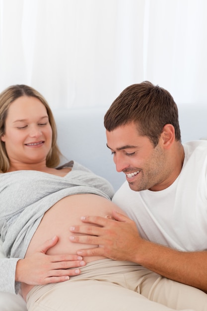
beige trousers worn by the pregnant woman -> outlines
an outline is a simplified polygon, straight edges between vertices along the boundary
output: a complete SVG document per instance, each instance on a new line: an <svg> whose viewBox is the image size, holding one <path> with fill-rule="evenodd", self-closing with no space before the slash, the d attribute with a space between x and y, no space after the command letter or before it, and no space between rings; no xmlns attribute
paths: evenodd
<svg viewBox="0 0 207 311"><path fill-rule="evenodd" d="M35 286L29 311L207 311L207 295L126 261L102 259L69 281Z"/></svg>

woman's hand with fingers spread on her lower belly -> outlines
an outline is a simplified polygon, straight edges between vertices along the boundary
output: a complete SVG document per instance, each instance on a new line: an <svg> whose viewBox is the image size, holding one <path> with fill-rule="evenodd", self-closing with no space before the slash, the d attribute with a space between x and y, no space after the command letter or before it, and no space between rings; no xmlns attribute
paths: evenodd
<svg viewBox="0 0 207 311"><path fill-rule="evenodd" d="M58 236L47 240L32 255L20 259L16 265L15 281L29 285L44 285L69 280L69 276L80 274L85 262L78 255L46 255L49 248L58 242ZM69 270L67 270L69 269Z"/></svg>

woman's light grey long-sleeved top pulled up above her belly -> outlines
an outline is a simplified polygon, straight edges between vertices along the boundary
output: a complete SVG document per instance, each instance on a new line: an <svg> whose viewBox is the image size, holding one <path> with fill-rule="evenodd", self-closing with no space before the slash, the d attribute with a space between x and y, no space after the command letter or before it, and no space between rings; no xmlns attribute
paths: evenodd
<svg viewBox="0 0 207 311"><path fill-rule="evenodd" d="M24 258L44 213L62 198L93 193L111 199L114 190L104 178L74 161L60 177L40 171L19 170L0 174L0 236L7 258L0 259L0 291L18 293L16 263Z"/></svg>

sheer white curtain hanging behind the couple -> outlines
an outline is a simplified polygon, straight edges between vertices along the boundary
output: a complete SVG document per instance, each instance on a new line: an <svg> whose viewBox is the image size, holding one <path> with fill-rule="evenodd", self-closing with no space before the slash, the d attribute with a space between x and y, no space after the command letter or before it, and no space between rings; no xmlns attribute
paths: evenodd
<svg viewBox="0 0 207 311"><path fill-rule="evenodd" d="M207 104L206 0L0 0L0 91L28 84L52 108L106 107L150 80Z"/></svg>

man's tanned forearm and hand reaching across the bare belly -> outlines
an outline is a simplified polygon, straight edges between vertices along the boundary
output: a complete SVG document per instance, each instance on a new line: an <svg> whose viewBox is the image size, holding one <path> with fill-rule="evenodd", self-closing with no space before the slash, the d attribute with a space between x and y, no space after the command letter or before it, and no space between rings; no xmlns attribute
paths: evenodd
<svg viewBox="0 0 207 311"><path fill-rule="evenodd" d="M166 278L207 292L207 251L182 252L146 241L140 237L134 221L117 212L112 216L117 221L98 216L82 217L88 226L70 228L72 233L88 234L71 235L70 241L99 245L79 250L78 255L133 261Z"/></svg>

